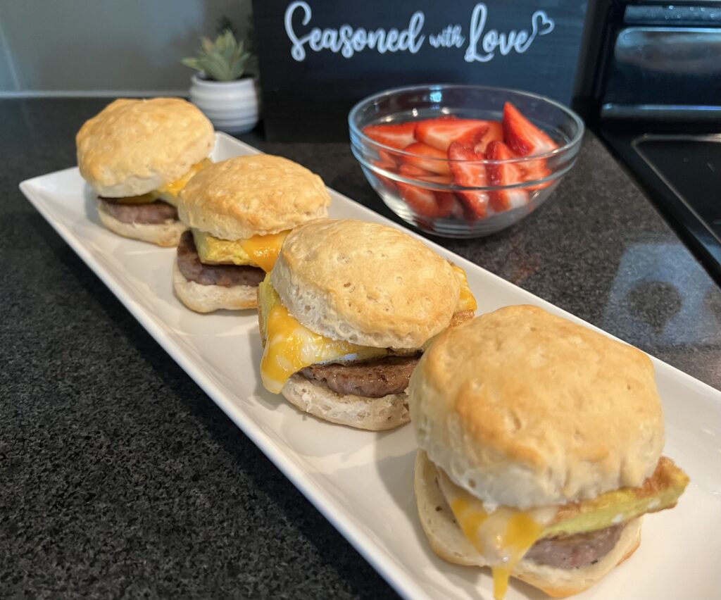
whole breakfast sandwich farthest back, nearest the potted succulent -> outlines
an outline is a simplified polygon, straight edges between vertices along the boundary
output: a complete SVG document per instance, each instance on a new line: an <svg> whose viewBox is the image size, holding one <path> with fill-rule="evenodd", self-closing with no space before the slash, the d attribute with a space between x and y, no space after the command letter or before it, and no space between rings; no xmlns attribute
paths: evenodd
<svg viewBox="0 0 721 600"><path fill-rule="evenodd" d="M98 194L103 225L125 237L177 246L180 190L207 166L213 125L180 98L120 99L76 136L80 174Z"/></svg>

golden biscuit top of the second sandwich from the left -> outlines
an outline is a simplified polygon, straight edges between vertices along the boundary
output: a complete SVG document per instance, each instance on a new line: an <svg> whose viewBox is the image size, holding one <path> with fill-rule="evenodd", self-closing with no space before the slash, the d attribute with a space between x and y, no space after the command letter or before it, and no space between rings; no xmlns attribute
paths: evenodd
<svg viewBox="0 0 721 600"><path fill-rule="evenodd" d="M221 239L275 234L327 215L323 180L270 154L236 156L198 172L180 194L178 215Z"/></svg>

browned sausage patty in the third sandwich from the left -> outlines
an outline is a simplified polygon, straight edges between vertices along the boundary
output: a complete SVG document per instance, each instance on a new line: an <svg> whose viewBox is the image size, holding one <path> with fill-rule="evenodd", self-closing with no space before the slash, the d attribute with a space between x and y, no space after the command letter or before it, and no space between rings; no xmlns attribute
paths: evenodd
<svg viewBox="0 0 721 600"><path fill-rule="evenodd" d="M420 356L384 356L363 363L319 364L301 369L300 374L338 394L380 398L404 392L419 359Z"/></svg>

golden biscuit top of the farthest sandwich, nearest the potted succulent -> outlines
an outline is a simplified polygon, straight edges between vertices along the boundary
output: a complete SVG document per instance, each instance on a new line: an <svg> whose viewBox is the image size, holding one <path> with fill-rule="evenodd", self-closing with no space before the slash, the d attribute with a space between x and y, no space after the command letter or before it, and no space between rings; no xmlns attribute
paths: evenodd
<svg viewBox="0 0 721 600"><path fill-rule="evenodd" d="M99 195L148 193L185 175L215 145L213 125L180 98L121 98L87 120L76 138L80 174Z"/></svg>

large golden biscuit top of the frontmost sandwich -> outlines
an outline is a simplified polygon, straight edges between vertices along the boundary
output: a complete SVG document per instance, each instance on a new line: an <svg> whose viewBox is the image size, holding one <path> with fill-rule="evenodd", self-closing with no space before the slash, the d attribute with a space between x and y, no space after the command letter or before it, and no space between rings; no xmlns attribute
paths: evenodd
<svg viewBox="0 0 721 600"><path fill-rule="evenodd" d="M535 306L444 332L412 375L409 406L420 448L490 506L637 487L663 449L650 358Z"/></svg>

